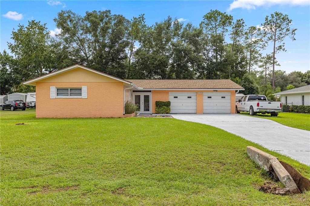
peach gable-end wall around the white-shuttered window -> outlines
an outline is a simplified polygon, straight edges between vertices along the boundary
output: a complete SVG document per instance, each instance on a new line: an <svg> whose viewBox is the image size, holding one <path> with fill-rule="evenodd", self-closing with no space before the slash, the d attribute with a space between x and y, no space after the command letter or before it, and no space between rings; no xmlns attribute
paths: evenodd
<svg viewBox="0 0 310 206"><path fill-rule="evenodd" d="M87 86L87 98L51 99L50 86ZM84 69L67 71L36 82L36 117L123 117L123 92L123 82Z"/></svg>

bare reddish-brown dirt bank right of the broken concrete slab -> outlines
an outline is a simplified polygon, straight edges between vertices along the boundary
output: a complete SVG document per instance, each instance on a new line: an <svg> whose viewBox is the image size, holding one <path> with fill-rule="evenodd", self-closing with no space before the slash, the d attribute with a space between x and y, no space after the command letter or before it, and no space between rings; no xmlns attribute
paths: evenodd
<svg viewBox="0 0 310 206"><path fill-rule="evenodd" d="M282 161L280 161L280 163L293 178L294 182L296 183L298 189L301 192L310 190L310 180L299 174L299 172L295 170L295 168L291 165Z"/></svg>

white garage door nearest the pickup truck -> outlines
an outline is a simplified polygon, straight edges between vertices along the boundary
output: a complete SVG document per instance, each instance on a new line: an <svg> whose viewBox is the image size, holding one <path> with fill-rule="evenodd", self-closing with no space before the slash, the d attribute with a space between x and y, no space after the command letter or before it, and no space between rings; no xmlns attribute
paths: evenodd
<svg viewBox="0 0 310 206"><path fill-rule="evenodd" d="M203 113L230 113L230 92L203 92Z"/></svg>

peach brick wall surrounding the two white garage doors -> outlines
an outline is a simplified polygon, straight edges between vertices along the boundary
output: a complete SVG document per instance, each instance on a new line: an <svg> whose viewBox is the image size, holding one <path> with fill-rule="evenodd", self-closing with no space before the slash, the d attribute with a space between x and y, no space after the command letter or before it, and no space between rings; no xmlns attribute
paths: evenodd
<svg viewBox="0 0 310 206"><path fill-rule="evenodd" d="M203 114L203 93L198 92L214 92L213 90L153 90L152 91L152 113L155 113L156 101L169 101L169 92L197 92L197 114ZM231 109L230 113L235 114L235 90L219 90L218 92L230 92Z"/></svg>

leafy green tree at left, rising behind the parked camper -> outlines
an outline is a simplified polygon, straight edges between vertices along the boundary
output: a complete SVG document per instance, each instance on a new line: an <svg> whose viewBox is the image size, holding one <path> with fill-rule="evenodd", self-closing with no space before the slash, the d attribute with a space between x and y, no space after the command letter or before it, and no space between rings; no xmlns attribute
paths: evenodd
<svg viewBox="0 0 310 206"><path fill-rule="evenodd" d="M19 80L31 79L54 68L50 47L50 32L46 24L40 21L28 21L28 25L18 25L18 29L12 31L13 43L8 43L11 53L14 54L20 68L18 70Z"/></svg>

